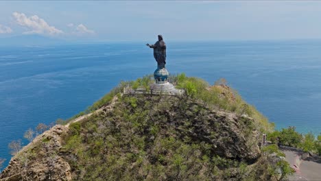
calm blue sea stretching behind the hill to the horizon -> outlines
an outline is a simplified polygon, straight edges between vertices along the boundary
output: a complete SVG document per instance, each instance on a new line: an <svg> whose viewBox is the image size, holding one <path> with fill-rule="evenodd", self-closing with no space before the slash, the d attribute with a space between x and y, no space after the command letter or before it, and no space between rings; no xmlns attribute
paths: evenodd
<svg viewBox="0 0 321 181"><path fill-rule="evenodd" d="M167 69L220 77L276 128L321 132L321 40L167 42ZM28 128L67 119L121 80L156 68L145 43L99 43L0 50L0 158Z"/></svg>

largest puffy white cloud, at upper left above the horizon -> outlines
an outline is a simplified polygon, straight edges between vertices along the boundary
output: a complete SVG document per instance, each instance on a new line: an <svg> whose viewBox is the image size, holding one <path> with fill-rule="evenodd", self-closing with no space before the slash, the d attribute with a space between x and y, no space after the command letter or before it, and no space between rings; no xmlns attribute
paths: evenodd
<svg viewBox="0 0 321 181"><path fill-rule="evenodd" d="M14 12L12 14L16 19L16 22L29 29L28 32L24 32L23 34L62 34L62 30L57 29L56 27L49 26L48 23L44 19L40 19L38 16L25 16L23 13Z"/></svg>

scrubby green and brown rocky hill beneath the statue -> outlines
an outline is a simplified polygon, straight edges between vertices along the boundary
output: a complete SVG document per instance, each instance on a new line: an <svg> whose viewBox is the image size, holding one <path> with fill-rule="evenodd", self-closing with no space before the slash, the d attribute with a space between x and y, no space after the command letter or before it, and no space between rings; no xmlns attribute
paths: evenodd
<svg viewBox="0 0 321 181"><path fill-rule="evenodd" d="M273 124L224 80L171 77L185 96L123 94L122 82L91 108L37 136L1 180L283 180L276 147L259 147Z"/></svg>

